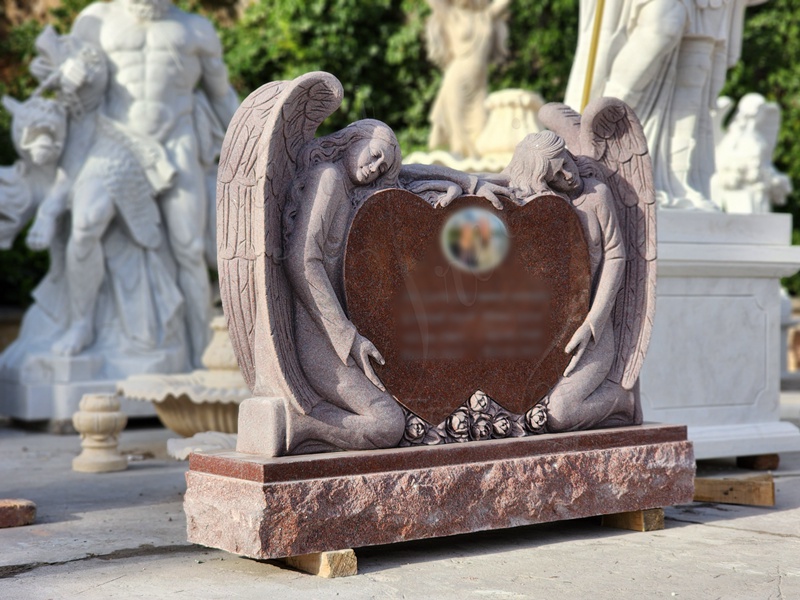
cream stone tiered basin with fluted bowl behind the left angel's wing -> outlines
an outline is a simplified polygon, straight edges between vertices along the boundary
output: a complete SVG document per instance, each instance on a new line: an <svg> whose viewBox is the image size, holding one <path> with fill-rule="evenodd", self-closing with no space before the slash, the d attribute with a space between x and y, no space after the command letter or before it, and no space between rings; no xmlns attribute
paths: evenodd
<svg viewBox="0 0 800 600"><path fill-rule="evenodd" d="M175 433L236 433L239 404L250 390L239 371L225 317L211 321L213 336L202 362L205 369L179 375L135 375L117 384L126 398L152 402L158 418Z"/></svg>

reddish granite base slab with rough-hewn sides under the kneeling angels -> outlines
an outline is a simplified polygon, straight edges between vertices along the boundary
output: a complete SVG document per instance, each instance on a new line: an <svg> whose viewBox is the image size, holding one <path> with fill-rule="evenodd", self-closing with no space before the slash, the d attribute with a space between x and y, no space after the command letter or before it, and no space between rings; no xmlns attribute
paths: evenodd
<svg viewBox="0 0 800 600"><path fill-rule="evenodd" d="M688 503L686 428L265 458L193 454L189 541L268 559Z"/></svg>

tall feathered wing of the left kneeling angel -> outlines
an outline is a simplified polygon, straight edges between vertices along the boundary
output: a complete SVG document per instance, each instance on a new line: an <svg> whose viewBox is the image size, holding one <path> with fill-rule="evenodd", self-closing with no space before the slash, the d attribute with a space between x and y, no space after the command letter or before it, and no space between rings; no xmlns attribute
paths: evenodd
<svg viewBox="0 0 800 600"><path fill-rule="evenodd" d="M220 292L239 368L255 395L282 395L303 412L318 396L295 349L282 215L300 149L342 95L323 72L260 87L231 120L217 176Z"/></svg>

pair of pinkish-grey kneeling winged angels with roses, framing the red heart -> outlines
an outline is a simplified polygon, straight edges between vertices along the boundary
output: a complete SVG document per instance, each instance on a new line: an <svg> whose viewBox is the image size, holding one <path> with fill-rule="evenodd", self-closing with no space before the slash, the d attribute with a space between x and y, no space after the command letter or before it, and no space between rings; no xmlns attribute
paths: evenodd
<svg viewBox="0 0 800 600"><path fill-rule="evenodd" d="M223 144L220 286L254 394L240 412L240 449L251 425L260 434L247 449L277 456L485 439L474 425L498 410L504 419L495 422L504 425L492 437L640 423L637 381L655 305L655 195L631 109L602 99L581 117L548 105L542 118L553 132L526 138L503 173L476 176L402 166L394 133L379 121L314 138L341 100L327 73L267 84L242 104ZM348 314L344 271L354 219L365 203L389 201L377 193L392 188L424 194L432 211L483 198L500 220L505 202L536 211L546 197L580 224L583 249L574 251L588 255L589 309L558 349L567 361L558 381L521 400L526 414L474 390L450 418L430 423L382 381L383 350ZM394 227L406 225L414 226Z"/></svg>

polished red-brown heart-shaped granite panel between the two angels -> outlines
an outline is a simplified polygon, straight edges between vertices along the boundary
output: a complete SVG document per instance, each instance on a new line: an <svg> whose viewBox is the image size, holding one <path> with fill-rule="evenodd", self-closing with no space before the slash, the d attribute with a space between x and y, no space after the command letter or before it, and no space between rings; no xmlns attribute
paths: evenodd
<svg viewBox="0 0 800 600"><path fill-rule="evenodd" d="M375 371L433 425L476 390L524 413L569 364L589 310L589 254L558 196L464 197L433 208L392 189L358 210L345 253L348 315L386 359Z"/></svg>

